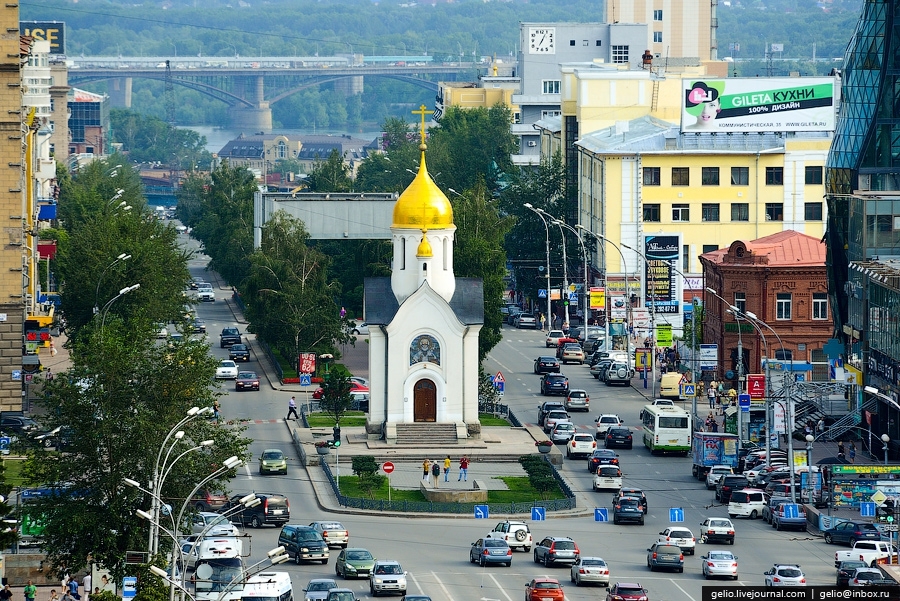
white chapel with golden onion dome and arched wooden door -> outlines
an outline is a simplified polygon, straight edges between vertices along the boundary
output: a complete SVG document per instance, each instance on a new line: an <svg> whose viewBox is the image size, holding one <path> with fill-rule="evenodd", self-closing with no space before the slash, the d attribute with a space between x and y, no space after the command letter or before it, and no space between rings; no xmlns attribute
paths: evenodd
<svg viewBox="0 0 900 601"><path fill-rule="evenodd" d="M443 424L457 439L480 435L484 290L481 279L453 274L453 208L428 175L424 127L419 149L419 171L394 205L391 277L365 282L366 431L388 442L423 427L415 424Z"/></svg>

